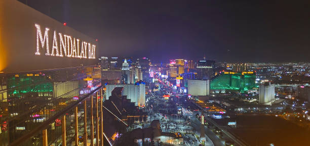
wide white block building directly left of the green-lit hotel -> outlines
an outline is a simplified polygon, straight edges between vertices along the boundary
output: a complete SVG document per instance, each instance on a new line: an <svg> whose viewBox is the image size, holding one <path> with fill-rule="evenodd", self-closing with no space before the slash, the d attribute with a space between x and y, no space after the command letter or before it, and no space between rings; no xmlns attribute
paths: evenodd
<svg viewBox="0 0 310 146"><path fill-rule="evenodd" d="M210 95L210 80L187 80L188 94L193 96Z"/></svg>

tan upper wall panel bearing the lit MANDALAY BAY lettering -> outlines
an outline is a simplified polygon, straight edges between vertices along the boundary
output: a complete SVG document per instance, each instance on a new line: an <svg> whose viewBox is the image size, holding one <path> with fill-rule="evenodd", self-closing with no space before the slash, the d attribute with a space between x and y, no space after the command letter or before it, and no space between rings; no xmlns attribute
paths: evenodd
<svg viewBox="0 0 310 146"><path fill-rule="evenodd" d="M18 1L0 1L0 72L95 65L96 39Z"/></svg>

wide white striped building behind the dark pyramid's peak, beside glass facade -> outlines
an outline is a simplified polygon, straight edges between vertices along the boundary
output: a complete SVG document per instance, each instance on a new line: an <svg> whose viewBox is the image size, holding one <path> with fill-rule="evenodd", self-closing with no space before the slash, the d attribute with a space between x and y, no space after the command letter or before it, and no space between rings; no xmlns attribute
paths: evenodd
<svg viewBox="0 0 310 146"><path fill-rule="evenodd" d="M130 102L134 102L136 106L145 106L145 84L118 84L118 85L106 85L106 99L111 96L111 92L115 87L123 87L123 95L130 99Z"/></svg>

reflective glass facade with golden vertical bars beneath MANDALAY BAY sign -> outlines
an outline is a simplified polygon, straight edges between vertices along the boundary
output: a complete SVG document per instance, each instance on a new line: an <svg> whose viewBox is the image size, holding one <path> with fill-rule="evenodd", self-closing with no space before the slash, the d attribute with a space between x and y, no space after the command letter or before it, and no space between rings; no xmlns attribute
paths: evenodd
<svg viewBox="0 0 310 146"><path fill-rule="evenodd" d="M98 74L82 66L0 76L0 145L103 144Z"/></svg>

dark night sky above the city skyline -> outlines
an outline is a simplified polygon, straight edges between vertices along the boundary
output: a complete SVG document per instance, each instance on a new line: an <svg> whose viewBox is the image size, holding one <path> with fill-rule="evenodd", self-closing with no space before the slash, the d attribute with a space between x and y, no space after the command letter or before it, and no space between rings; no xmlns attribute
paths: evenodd
<svg viewBox="0 0 310 146"><path fill-rule="evenodd" d="M26 4L26 0L20 0ZM310 1L47 1L28 6L99 42L99 56L310 61Z"/></svg>

